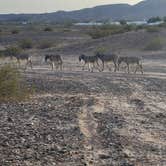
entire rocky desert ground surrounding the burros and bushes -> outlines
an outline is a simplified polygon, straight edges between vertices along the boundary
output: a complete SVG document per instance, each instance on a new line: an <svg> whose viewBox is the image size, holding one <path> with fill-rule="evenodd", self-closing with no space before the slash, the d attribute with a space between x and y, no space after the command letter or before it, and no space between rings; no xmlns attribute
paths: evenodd
<svg viewBox="0 0 166 166"><path fill-rule="evenodd" d="M0 104L0 165L166 165L166 50L143 50L153 38L166 37L166 29L101 39L91 39L86 31L26 26L19 34L8 29L1 34L1 49L25 38L54 45L26 50L33 70L20 71L35 87L30 100ZM125 67L116 73L82 71L79 55L93 55L99 47L143 57L144 74L128 74ZM62 56L63 71L50 70L43 60L47 53Z"/></svg>

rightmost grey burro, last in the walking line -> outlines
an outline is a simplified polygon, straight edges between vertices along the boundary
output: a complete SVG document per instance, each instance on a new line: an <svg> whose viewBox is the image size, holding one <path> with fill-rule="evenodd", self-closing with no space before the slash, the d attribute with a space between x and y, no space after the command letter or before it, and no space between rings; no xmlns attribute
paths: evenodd
<svg viewBox="0 0 166 166"><path fill-rule="evenodd" d="M130 66L129 65L130 64L137 64L137 67L136 67L134 73L136 73L138 68L140 68L141 73L143 74L142 58L140 58L140 57L131 57L131 56L119 57L118 58L118 70L119 70L119 66L122 62L126 63L128 73L130 73Z"/></svg>

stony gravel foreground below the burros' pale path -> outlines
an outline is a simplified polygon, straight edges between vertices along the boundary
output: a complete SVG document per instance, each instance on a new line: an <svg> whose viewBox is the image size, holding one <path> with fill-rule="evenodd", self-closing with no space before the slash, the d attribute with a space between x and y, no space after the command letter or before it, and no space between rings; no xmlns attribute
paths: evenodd
<svg viewBox="0 0 166 166"><path fill-rule="evenodd" d="M43 72L43 73L42 73ZM166 80L27 71L36 94L0 105L0 165L166 165Z"/></svg>

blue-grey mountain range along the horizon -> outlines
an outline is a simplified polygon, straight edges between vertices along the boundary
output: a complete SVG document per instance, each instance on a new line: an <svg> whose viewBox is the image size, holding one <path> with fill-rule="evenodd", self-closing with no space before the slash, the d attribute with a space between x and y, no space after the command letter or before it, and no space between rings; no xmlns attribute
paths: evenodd
<svg viewBox="0 0 166 166"><path fill-rule="evenodd" d="M7 14L0 15L0 21L31 22L76 22L104 20L144 20L154 16L166 16L166 0L144 0L136 5L113 4L76 11L58 11L45 14Z"/></svg>

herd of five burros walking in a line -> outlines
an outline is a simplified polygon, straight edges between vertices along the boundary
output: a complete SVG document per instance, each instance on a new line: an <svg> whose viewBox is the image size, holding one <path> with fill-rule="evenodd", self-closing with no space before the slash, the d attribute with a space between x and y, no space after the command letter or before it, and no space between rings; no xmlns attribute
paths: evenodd
<svg viewBox="0 0 166 166"><path fill-rule="evenodd" d="M13 57L12 57L13 58ZM26 61L25 69L30 66L31 69L33 68L32 65L32 56L26 53L15 55L14 58L16 58L17 63L20 67L21 61ZM96 53L93 56L81 54L79 56L79 62L83 61L82 70L85 70L85 67L88 67L89 72L93 72L93 70L96 68L99 72L104 71L106 66L108 67L108 63L113 63L114 65L114 72L120 70L120 65L123 63L125 64L127 68L127 72L130 73L130 65L135 65L135 71L136 73L139 69L139 71L143 74L143 66L142 66L142 57L136 57L136 56L118 56L114 53ZM44 61L46 63L49 63L51 66L51 70L63 70L63 60L61 55L59 54L46 54L44 57ZM100 61L100 63L99 63ZM109 70L111 70L110 67L108 67Z"/></svg>

